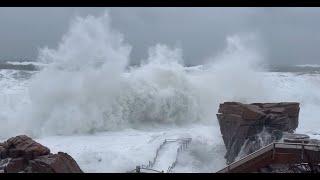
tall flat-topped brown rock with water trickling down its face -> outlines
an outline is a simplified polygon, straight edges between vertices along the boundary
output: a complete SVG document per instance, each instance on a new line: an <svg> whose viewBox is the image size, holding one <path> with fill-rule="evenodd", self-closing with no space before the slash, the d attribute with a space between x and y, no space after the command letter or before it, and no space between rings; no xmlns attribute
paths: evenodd
<svg viewBox="0 0 320 180"><path fill-rule="evenodd" d="M298 127L299 111L297 102L220 104L217 118L227 148L227 163L233 162L240 151L251 153L279 140L283 132L294 132Z"/></svg>

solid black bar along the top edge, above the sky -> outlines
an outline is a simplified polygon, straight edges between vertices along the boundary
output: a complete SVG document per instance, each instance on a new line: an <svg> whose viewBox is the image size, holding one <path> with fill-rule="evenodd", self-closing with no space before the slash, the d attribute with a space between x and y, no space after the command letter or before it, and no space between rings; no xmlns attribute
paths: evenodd
<svg viewBox="0 0 320 180"><path fill-rule="evenodd" d="M2 7L312 7L319 0L4 0Z"/></svg>

